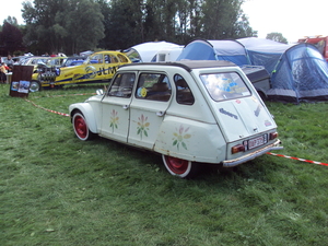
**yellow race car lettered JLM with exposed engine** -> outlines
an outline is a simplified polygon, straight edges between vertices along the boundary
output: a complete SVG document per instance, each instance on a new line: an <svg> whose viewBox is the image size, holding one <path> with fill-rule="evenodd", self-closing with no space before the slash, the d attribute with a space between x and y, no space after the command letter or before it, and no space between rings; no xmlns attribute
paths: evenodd
<svg viewBox="0 0 328 246"><path fill-rule="evenodd" d="M78 83L108 82L119 66L131 63L130 59L118 51L99 51L89 56L79 66L56 68L39 66L38 72L32 75L31 92L42 87L58 87Z"/></svg>

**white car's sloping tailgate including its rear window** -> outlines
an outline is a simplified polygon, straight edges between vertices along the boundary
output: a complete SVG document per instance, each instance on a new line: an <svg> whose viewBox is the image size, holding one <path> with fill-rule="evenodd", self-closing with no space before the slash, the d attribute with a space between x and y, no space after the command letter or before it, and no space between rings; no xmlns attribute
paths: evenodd
<svg viewBox="0 0 328 246"><path fill-rule="evenodd" d="M227 142L277 128L255 90L237 72L207 73L200 78Z"/></svg>

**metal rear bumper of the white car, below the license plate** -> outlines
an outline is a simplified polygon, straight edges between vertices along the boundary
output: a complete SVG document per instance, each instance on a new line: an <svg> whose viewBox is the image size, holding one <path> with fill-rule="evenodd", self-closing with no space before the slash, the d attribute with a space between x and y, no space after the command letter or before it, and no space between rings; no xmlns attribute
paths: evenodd
<svg viewBox="0 0 328 246"><path fill-rule="evenodd" d="M255 152L251 152L247 155L244 155L242 157L238 157L238 159L233 159L233 160L230 160L230 161L223 161L222 164L224 167L233 167L233 166L237 166L242 163L245 163L245 162L248 162L257 156L260 156L260 155L263 155L265 153L267 152L270 152L270 151L274 151L274 150L282 150L283 147L280 147L280 140L278 139L274 143L271 143L270 145L267 145L258 151L255 151Z"/></svg>

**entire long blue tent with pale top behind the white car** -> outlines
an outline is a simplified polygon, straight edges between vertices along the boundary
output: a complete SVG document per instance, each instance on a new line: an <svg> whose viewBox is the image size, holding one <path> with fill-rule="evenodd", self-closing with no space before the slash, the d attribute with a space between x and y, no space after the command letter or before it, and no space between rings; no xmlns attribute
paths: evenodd
<svg viewBox="0 0 328 246"><path fill-rule="evenodd" d="M185 46L177 60L229 60L239 67L262 66L270 74L266 94L273 101L328 99L328 68L309 44L285 45L265 38L197 39Z"/></svg>

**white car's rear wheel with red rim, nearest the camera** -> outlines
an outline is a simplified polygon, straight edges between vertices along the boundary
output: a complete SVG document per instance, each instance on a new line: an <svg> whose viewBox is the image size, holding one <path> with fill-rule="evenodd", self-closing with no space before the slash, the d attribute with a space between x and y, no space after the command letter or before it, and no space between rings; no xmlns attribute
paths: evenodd
<svg viewBox="0 0 328 246"><path fill-rule="evenodd" d="M180 178L191 178L198 173L199 167L198 163L168 156L162 155L164 165L168 173Z"/></svg>

